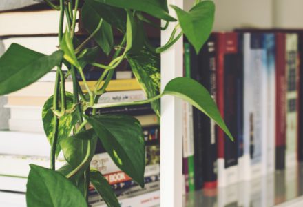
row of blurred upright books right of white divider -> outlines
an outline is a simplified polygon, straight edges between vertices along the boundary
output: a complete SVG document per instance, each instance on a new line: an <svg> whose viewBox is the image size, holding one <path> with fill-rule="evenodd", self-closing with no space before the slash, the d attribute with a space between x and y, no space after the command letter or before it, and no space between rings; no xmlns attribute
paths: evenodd
<svg viewBox="0 0 303 207"><path fill-rule="evenodd" d="M235 141L195 108L185 110L191 147L187 190L228 186L303 161L300 30L215 32L196 55L185 42L185 74L215 99ZM189 121L186 121L186 120ZM188 149L183 148L183 152Z"/></svg>

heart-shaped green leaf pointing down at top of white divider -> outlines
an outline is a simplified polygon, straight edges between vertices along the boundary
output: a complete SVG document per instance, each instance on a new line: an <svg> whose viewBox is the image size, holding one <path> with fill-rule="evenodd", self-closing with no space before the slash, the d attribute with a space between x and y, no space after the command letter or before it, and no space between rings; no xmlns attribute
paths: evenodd
<svg viewBox="0 0 303 207"><path fill-rule="evenodd" d="M198 54L213 28L215 15L213 1L201 1L189 12L185 12L177 6L171 7L176 11L182 31Z"/></svg>

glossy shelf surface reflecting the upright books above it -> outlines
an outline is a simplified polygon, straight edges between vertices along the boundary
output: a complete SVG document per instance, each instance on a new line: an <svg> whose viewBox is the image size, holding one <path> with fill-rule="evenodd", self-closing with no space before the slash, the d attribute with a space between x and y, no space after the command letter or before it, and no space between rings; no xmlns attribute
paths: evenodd
<svg viewBox="0 0 303 207"><path fill-rule="evenodd" d="M303 164L225 188L188 193L185 207L268 207L303 196Z"/></svg>

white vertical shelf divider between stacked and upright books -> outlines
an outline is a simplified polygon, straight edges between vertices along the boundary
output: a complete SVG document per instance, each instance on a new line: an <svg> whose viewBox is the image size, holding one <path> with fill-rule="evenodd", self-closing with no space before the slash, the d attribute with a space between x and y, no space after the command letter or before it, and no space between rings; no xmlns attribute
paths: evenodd
<svg viewBox="0 0 303 207"><path fill-rule="evenodd" d="M168 0L168 5L183 8L183 0ZM169 6L169 14L176 13ZM163 22L164 25L165 22ZM174 30L176 22L169 23L167 30L161 32L163 46ZM161 90L175 77L183 74L182 37L169 50L161 53ZM160 206L182 206L182 101L165 96L161 99L160 126Z"/></svg>

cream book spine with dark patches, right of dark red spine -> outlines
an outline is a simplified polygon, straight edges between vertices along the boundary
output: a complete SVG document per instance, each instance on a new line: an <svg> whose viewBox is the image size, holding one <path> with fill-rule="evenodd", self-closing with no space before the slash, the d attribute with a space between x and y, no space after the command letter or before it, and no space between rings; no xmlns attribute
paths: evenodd
<svg viewBox="0 0 303 207"><path fill-rule="evenodd" d="M297 34L286 34L286 158L297 164Z"/></svg>

